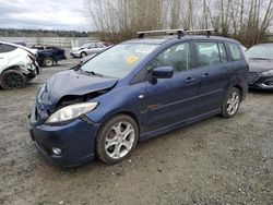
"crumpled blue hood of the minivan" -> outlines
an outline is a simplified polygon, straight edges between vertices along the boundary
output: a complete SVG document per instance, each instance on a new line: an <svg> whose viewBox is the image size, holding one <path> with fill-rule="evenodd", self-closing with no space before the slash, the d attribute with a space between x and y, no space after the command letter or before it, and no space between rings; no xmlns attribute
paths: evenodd
<svg viewBox="0 0 273 205"><path fill-rule="evenodd" d="M85 75L74 70L68 70L55 74L47 81L45 93L39 100L47 109L52 109L58 101L68 95L83 96L100 89L106 89L116 85L118 80ZM39 96L39 95L38 95ZM47 96L47 100L43 100Z"/></svg>

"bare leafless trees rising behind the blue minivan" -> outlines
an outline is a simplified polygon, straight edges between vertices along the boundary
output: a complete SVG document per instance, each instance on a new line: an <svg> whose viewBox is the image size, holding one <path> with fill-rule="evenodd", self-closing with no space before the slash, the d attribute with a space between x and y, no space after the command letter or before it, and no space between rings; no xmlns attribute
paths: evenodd
<svg viewBox="0 0 273 205"><path fill-rule="evenodd" d="M103 40L122 41L136 31L215 28L250 47L266 40L273 0L84 0Z"/></svg>

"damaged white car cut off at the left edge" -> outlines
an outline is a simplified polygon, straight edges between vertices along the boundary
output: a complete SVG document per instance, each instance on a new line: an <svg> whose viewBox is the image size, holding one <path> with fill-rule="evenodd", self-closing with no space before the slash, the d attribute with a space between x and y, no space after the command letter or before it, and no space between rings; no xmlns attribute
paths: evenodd
<svg viewBox="0 0 273 205"><path fill-rule="evenodd" d="M39 74L36 49L0 41L0 87L21 88Z"/></svg>

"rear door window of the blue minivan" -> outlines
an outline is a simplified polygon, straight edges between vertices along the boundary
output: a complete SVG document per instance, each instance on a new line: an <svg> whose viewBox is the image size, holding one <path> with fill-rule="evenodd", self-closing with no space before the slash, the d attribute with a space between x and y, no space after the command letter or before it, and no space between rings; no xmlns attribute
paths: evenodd
<svg viewBox="0 0 273 205"><path fill-rule="evenodd" d="M198 52L198 67L227 62L227 55L224 44L218 43L195 43Z"/></svg>

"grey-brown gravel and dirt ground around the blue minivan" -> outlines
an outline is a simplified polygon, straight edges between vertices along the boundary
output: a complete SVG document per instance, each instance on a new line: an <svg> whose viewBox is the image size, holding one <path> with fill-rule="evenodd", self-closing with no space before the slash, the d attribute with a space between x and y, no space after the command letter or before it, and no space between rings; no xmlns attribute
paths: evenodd
<svg viewBox="0 0 273 205"><path fill-rule="evenodd" d="M140 143L130 159L60 169L41 159L26 116L40 85L71 62L0 91L1 204L273 204L273 93L251 92L234 119L213 117Z"/></svg>

